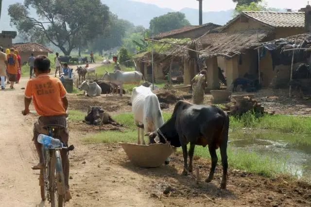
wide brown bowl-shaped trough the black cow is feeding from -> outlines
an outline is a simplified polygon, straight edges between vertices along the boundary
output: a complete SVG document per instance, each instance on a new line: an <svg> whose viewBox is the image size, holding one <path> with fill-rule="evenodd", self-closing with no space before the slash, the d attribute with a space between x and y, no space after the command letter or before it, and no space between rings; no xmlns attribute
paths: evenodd
<svg viewBox="0 0 311 207"><path fill-rule="evenodd" d="M138 145L119 142L131 162L139 167L155 168L164 163L173 153L169 144Z"/></svg>

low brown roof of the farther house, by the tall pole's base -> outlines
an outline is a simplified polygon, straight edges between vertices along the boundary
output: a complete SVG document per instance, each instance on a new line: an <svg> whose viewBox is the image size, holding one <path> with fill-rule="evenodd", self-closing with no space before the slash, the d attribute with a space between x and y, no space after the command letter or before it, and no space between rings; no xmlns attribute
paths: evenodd
<svg viewBox="0 0 311 207"><path fill-rule="evenodd" d="M207 24L203 24L203 25L189 25L189 26L185 26L185 27L180 28L180 29L160 33L158 35L153 36L153 38L154 39L170 38L173 35L179 35L179 34L182 34L185 32L190 32L190 31L196 30L196 29L201 28L201 27L206 27L206 32L207 32L208 30L212 30L212 29L215 29L217 27L220 27L220 25L213 24L213 23L207 23Z"/></svg>

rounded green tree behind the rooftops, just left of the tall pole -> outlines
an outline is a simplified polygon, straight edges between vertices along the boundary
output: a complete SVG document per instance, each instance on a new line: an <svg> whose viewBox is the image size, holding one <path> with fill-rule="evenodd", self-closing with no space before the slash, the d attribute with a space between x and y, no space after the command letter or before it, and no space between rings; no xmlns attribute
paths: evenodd
<svg viewBox="0 0 311 207"><path fill-rule="evenodd" d="M181 12L169 12L166 15L155 17L150 21L150 32L157 35L162 32L179 29L184 26L190 25L186 19L185 14Z"/></svg>

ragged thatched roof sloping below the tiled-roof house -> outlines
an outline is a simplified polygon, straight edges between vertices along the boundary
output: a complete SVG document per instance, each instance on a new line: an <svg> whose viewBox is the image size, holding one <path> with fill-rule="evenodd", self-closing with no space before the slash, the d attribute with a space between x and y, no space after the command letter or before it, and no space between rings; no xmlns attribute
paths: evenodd
<svg viewBox="0 0 311 207"><path fill-rule="evenodd" d="M266 30L247 30L237 33L209 33L198 38L196 42L203 45L203 56L227 56L232 57L246 49L255 47L254 45L264 41L271 34Z"/></svg>

